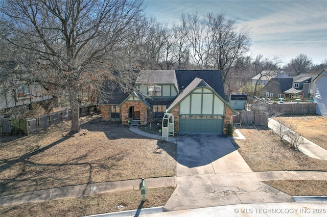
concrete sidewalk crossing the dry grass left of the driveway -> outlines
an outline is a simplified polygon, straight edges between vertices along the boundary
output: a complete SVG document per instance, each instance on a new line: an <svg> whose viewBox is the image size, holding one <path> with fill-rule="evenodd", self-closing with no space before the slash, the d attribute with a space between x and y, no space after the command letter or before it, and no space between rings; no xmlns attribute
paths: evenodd
<svg viewBox="0 0 327 217"><path fill-rule="evenodd" d="M37 203L64 198L82 197L101 193L125 191L139 188L141 179L126 181L112 181L92 184L82 184L66 187L45 189L36 192L27 192L0 198L1 207L17 206L26 203ZM176 177L147 178L148 188L176 186Z"/></svg>

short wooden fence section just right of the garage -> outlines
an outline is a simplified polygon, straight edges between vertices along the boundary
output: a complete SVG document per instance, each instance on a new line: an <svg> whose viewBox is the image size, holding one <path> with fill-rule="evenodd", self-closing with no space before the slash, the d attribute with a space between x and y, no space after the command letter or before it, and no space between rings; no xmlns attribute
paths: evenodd
<svg viewBox="0 0 327 217"><path fill-rule="evenodd" d="M265 115L258 111L254 112L254 111L243 110L240 111L240 113L237 116L233 117L232 122L243 124L243 125L255 124L255 125L268 126L268 115Z"/></svg>

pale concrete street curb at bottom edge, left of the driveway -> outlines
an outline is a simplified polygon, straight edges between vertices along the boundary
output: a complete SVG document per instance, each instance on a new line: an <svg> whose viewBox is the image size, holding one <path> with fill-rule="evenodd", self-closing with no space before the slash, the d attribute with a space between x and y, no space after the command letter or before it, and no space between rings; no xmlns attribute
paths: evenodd
<svg viewBox="0 0 327 217"><path fill-rule="evenodd" d="M103 214L95 214L95 215L87 215L85 217L125 217L125 216L138 216L144 214L153 214L163 212L162 206L145 208L145 209L133 209L127 211L120 211L120 212L109 212Z"/></svg>

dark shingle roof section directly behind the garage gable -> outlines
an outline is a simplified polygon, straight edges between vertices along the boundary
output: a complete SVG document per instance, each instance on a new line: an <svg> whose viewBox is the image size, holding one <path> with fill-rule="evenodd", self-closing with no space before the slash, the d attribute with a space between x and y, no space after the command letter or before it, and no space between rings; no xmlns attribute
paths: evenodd
<svg viewBox="0 0 327 217"><path fill-rule="evenodd" d="M176 77L179 91L181 91L182 87L186 88L189 86L189 84L198 77L203 79L209 87L214 89L224 100L226 100L220 70L176 70Z"/></svg>

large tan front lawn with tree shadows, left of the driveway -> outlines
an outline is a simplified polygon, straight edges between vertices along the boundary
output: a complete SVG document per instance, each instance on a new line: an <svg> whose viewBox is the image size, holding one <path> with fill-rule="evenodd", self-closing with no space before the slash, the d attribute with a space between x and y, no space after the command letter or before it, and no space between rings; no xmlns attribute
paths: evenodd
<svg viewBox="0 0 327 217"><path fill-rule="evenodd" d="M1 196L61 186L176 176L176 145L132 133L118 123L83 117L82 131L66 137L70 122L27 137L1 138ZM157 147L164 151L154 152Z"/></svg>

